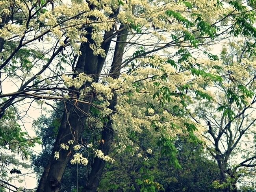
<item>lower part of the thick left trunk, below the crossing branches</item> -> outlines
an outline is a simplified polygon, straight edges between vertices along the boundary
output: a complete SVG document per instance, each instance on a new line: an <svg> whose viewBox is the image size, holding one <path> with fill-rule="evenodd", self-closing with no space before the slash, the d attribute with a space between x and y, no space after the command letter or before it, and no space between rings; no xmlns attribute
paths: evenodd
<svg viewBox="0 0 256 192"><path fill-rule="evenodd" d="M88 100L92 99L88 98ZM84 103L67 104L67 110L62 117L61 126L59 127L50 162L46 166L41 177L37 192L53 192L59 190L60 181L70 159L70 155L72 154L73 147L76 145L76 142L80 142L78 138L81 137L84 123L87 118L86 113L89 112L90 107L90 104ZM59 145L62 143L66 144L69 140L75 140L69 150L60 149ZM59 151L59 159L54 159L55 151Z"/></svg>

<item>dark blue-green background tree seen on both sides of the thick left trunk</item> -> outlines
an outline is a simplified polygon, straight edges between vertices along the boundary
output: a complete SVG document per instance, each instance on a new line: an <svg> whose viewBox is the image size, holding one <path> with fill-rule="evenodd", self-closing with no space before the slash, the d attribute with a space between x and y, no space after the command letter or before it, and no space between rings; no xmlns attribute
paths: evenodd
<svg viewBox="0 0 256 192"><path fill-rule="evenodd" d="M61 116L63 115L63 106L61 105L61 103L59 103L57 106L59 109L56 109L56 111L52 111L49 117L42 115L33 122L33 126L36 128L35 130L37 132L37 137L42 138L43 148L43 150L39 154L31 156L32 166L37 173L38 179L40 179L44 168L47 166L48 159L50 158L52 148L56 140L56 133L58 133L59 121ZM60 191L68 192L76 189L78 186L82 186L82 184L84 183L85 173L85 166L72 165L69 163L67 165L63 178L61 179Z"/></svg>

